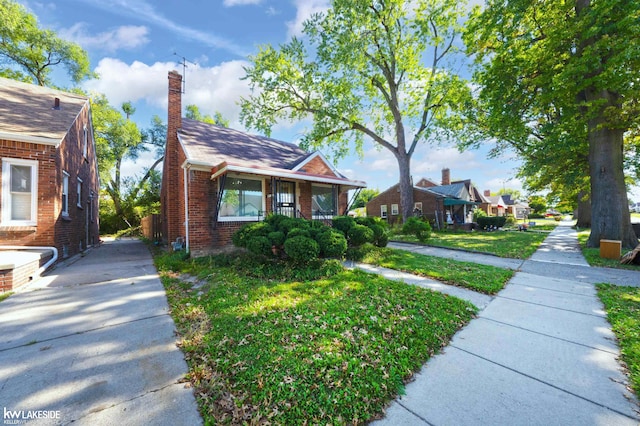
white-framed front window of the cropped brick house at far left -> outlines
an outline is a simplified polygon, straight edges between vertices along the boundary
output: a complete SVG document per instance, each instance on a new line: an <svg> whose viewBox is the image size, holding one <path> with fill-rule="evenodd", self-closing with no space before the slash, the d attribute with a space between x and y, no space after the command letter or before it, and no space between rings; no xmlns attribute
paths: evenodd
<svg viewBox="0 0 640 426"><path fill-rule="evenodd" d="M38 162L2 159L2 223L33 226L38 212Z"/></svg>

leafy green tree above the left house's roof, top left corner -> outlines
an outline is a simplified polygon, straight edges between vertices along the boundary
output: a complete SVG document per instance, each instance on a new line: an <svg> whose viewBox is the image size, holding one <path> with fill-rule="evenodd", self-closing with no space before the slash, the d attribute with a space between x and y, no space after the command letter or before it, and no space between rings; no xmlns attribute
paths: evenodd
<svg viewBox="0 0 640 426"><path fill-rule="evenodd" d="M76 43L41 29L24 6L0 0L0 75L49 86L53 67L63 66L74 82L91 75L89 56Z"/></svg>

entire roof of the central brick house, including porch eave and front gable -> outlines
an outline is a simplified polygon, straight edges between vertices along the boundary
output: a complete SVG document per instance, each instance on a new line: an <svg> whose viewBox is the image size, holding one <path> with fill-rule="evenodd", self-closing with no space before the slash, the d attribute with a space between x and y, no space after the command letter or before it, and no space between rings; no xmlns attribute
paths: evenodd
<svg viewBox="0 0 640 426"><path fill-rule="evenodd" d="M178 140L187 162L211 170L213 177L235 171L352 187L366 186L364 182L349 180L338 173L318 152L308 153L295 144L264 136L183 118ZM304 166L316 158L327 165L331 176L304 171Z"/></svg>

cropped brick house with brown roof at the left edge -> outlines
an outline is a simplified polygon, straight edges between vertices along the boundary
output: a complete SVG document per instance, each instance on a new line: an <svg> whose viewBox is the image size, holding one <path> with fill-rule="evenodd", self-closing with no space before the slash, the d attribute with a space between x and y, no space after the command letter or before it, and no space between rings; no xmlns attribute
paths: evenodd
<svg viewBox="0 0 640 426"><path fill-rule="evenodd" d="M89 99L0 78L0 292L97 244Z"/></svg>

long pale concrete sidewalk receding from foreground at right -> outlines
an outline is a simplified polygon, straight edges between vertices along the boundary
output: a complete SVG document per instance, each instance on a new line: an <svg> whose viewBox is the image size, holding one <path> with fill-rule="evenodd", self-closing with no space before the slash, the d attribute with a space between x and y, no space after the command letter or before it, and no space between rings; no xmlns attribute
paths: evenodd
<svg viewBox="0 0 640 426"><path fill-rule="evenodd" d="M637 425L637 400L589 282L600 268L582 265L576 244L569 227L552 232L522 265L532 273L517 272L374 424ZM582 280L536 273L550 265ZM628 277L640 282L640 273Z"/></svg>

